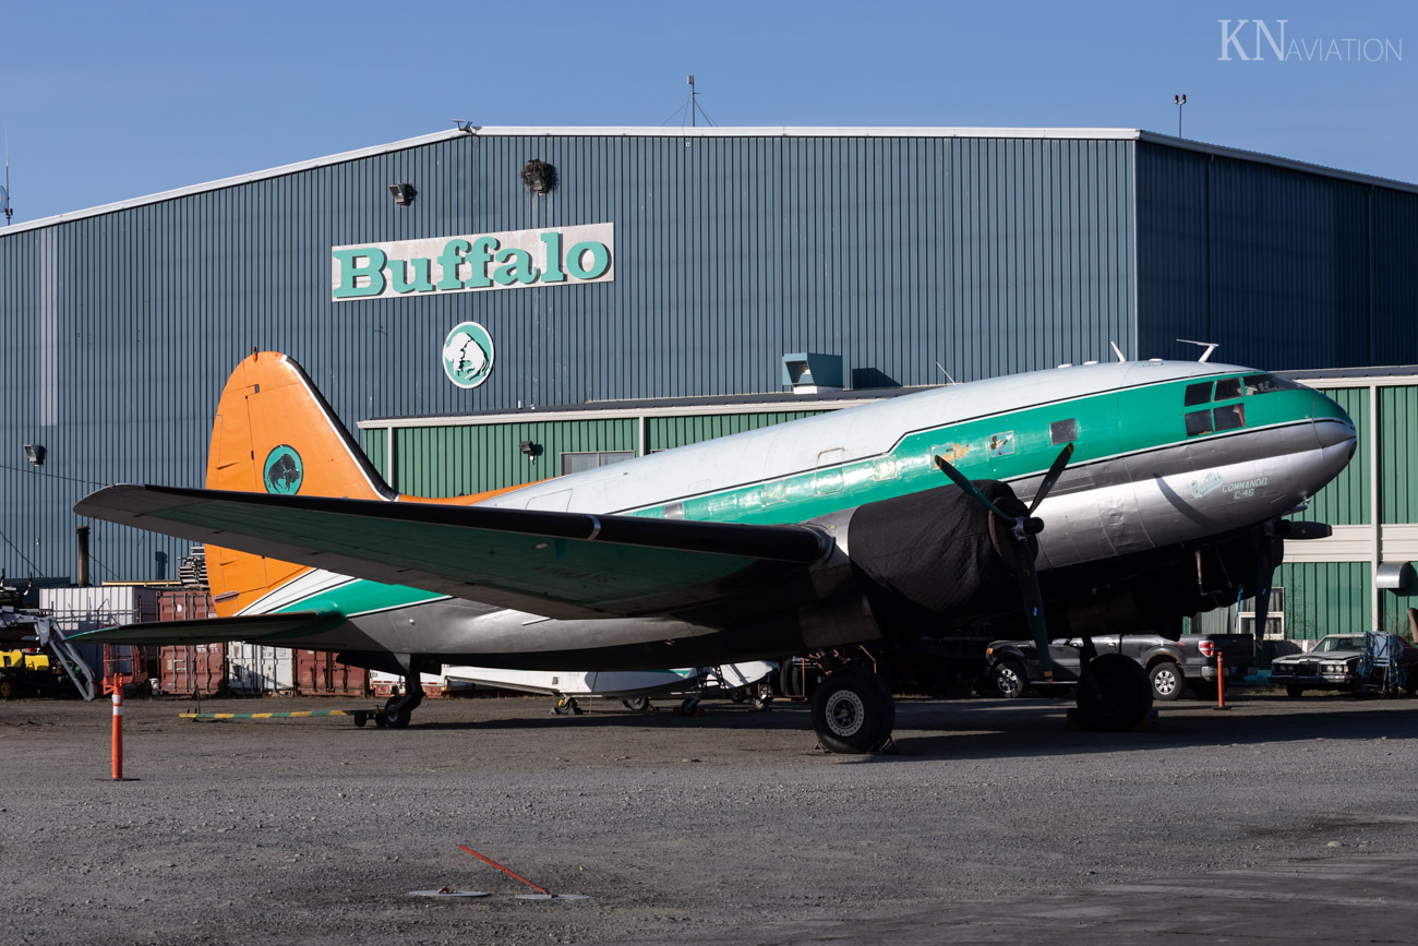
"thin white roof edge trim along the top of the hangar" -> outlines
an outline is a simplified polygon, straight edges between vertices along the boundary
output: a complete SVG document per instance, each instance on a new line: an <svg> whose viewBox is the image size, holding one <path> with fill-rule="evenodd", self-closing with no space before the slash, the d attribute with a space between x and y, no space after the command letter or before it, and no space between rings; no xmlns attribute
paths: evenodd
<svg viewBox="0 0 1418 946"><path fill-rule="evenodd" d="M82 220L85 217L99 217L102 214L116 213L119 210L128 210L132 207L142 207L145 204L156 204L164 200L176 200L179 197L187 197L191 194L206 193L208 190L223 190L225 187L235 187L238 184L247 184L258 180L267 180L271 177L282 177L285 174L299 173L302 170L311 170L315 167L325 167L329 165L339 165L343 162L359 160L362 157L373 157L376 155L384 155L390 152L407 150L410 148L418 148L421 145L432 145L442 140L450 140L455 138L493 138L493 136L560 136L560 138L1024 138L1024 139L1078 139L1078 140L1137 140L1150 145L1161 145L1166 148L1178 148L1183 150L1201 152L1207 155L1218 155L1224 157L1235 157L1238 160L1249 160L1262 165L1271 165L1275 167L1285 167L1288 170L1299 170L1312 174L1322 174L1326 177L1334 177L1339 180L1349 180L1361 184L1371 184L1378 187L1390 187L1394 190L1401 190L1407 193L1418 194L1418 184L1408 182L1392 180L1388 177L1377 177L1373 174L1361 174L1356 172L1340 170L1336 167L1326 167L1323 165L1312 165L1302 160L1292 160L1288 157L1279 157L1275 155L1265 155L1262 152L1251 152L1238 148L1227 148L1224 145L1208 145L1205 142L1195 142L1183 138L1174 138L1171 135L1160 135L1157 132L1147 132L1136 128L852 128L852 126L739 126L739 128L658 128L658 126L607 126L607 128L570 128L570 126L471 126L467 132L462 129L450 129L445 132L434 132L431 135L420 135L417 138L406 138L397 142L389 142L384 145L372 145L369 148L359 148L349 152L340 152L336 155L326 155L323 157L312 157L303 162L295 162L292 165L281 165L278 167L268 167L264 170L255 170L245 174L235 174L233 177L223 177L218 180L206 182L201 184L189 184L186 187L176 187L173 190L159 191L156 194L147 194L143 197L130 197L128 200L119 200L109 204L101 204L98 207L88 207L85 210L72 210L62 214L54 214L52 217L41 217L38 220L28 220L24 223L17 223L10 227L0 228L0 237L6 237L16 233L24 233L28 230L38 230L43 227L52 227L61 223L69 223L72 220Z"/></svg>

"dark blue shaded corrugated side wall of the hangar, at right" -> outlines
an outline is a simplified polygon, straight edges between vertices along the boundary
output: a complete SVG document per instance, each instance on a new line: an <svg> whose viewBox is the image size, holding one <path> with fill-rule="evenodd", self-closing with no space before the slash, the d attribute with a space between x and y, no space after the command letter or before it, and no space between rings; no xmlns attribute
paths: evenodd
<svg viewBox="0 0 1418 946"><path fill-rule="evenodd" d="M1418 196L1137 146L1140 355L1273 369L1418 362Z"/></svg>

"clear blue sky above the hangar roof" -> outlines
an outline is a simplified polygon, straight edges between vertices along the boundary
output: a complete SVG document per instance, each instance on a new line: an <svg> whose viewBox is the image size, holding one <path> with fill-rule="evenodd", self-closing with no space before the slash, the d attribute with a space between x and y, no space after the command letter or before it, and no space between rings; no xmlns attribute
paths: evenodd
<svg viewBox="0 0 1418 946"><path fill-rule="evenodd" d="M1248 24L1221 61L1239 18L1295 54ZM16 221L451 118L661 125L688 72L718 125L747 126L1176 133L1185 92L1187 138L1418 182L1411 3L81 0L11 4L0 30Z"/></svg>

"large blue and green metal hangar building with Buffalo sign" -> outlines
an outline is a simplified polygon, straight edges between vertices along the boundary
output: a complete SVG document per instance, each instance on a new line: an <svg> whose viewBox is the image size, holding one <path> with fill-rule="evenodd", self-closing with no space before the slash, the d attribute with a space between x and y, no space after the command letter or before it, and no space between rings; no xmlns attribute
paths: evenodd
<svg viewBox="0 0 1418 946"><path fill-rule="evenodd" d="M1134 129L464 128L0 230L0 567L170 579L71 506L201 485L217 396L294 356L398 491L455 495L1095 359L1332 393L1339 526L1283 631L1392 625L1418 559L1418 187Z"/></svg>

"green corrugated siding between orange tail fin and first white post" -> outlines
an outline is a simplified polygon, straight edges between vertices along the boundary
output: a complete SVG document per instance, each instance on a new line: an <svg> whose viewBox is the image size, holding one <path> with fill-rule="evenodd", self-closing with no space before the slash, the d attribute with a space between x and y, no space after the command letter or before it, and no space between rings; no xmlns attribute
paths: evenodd
<svg viewBox="0 0 1418 946"><path fill-rule="evenodd" d="M625 418L406 427L394 431L394 479L415 496L459 496L562 474L562 454L635 450L635 421ZM542 448L527 460L518 445Z"/></svg>

